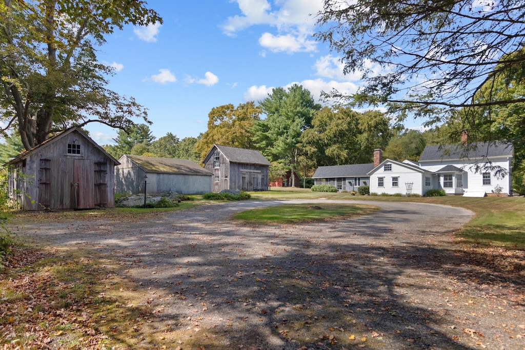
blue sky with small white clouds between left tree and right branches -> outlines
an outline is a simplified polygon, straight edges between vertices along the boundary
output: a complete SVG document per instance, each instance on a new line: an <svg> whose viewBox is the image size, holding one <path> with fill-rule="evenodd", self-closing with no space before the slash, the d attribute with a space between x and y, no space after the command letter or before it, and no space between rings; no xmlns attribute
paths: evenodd
<svg viewBox="0 0 525 350"><path fill-rule="evenodd" d="M148 109L156 138L196 137L212 108L257 102L272 88L298 83L316 101L332 88L356 91L360 74L343 75L338 52L312 37L322 3L149 0L163 24L114 32L98 59L116 70L108 88ZM101 145L117 136L98 123L87 129Z"/></svg>

